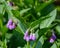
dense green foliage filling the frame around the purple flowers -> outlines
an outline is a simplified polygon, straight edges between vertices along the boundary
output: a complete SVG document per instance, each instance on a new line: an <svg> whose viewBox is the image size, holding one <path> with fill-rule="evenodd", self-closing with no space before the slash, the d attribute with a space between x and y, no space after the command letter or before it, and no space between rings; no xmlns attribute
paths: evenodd
<svg viewBox="0 0 60 48"><path fill-rule="evenodd" d="M59 13L54 0L0 0L0 48L60 48ZM16 23L13 30L6 27L9 19ZM24 40L27 29L36 34L35 41ZM52 30L54 43L49 42Z"/></svg>

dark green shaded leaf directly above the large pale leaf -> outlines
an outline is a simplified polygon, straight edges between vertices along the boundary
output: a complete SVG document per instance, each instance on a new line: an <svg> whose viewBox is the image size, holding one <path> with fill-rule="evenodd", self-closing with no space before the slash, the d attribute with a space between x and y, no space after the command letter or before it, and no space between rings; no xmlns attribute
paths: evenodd
<svg viewBox="0 0 60 48"><path fill-rule="evenodd" d="M49 14L53 10L54 10L54 5L49 4L48 6L46 6L45 8L43 8L41 10L41 16L46 16L47 14Z"/></svg>

